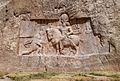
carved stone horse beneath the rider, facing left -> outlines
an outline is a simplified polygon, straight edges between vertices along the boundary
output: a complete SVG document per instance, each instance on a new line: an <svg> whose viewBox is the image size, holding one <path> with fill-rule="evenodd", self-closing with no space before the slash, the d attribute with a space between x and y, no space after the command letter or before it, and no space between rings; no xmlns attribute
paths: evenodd
<svg viewBox="0 0 120 81"><path fill-rule="evenodd" d="M47 39L55 47L57 54L63 54L62 50L71 47L79 54L80 38L77 35L63 36L58 28L46 29Z"/></svg>

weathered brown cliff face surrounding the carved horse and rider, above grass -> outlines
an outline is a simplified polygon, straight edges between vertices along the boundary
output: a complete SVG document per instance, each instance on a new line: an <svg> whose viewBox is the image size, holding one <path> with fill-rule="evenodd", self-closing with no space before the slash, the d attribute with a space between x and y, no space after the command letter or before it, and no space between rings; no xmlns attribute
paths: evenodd
<svg viewBox="0 0 120 81"><path fill-rule="evenodd" d="M57 55L47 39L64 13L81 33L78 55L67 47ZM119 13L119 0L1 0L0 70L119 70Z"/></svg>

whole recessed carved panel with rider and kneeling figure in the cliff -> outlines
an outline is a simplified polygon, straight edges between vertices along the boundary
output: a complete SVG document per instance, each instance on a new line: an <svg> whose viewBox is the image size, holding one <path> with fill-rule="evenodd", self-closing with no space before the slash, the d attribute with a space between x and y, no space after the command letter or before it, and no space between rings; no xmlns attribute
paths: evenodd
<svg viewBox="0 0 120 81"><path fill-rule="evenodd" d="M83 55L109 51L94 36L90 18L70 19L63 13L59 19L22 21L19 55ZM47 22L47 23L46 23Z"/></svg>

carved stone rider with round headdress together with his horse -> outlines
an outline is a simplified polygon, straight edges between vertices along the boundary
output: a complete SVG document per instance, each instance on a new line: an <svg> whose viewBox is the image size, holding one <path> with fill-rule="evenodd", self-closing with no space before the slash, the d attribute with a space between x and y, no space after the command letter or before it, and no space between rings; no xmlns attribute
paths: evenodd
<svg viewBox="0 0 120 81"><path fill-rule="evenodd" d="M48 28L46 33L49 42L55 47L57 54L65 54L63 52L64 48L69 47L76 50L75 54L79 54L80 38L74 34L67 14L62 14L59 25L56 28ZM79 32L77 33L79 34Z"/></svg>

